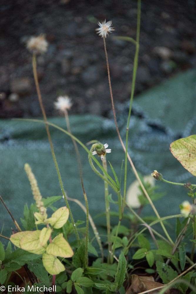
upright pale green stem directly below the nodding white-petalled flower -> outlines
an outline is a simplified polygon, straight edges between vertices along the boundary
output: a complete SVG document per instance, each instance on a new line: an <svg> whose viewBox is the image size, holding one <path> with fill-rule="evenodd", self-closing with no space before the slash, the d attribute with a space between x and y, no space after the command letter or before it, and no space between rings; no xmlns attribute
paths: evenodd
<svg viewBox="0 0 196 294"><path fill-rule="evenodd" d="M103 157L103 168L107 171L107 161L105 156ZM103 175L105 178L106 176ZM106 215L106 225L107 225L107 237L108 237L108 263L111 263L111 250L112 250L112 243L111 243L111 227L110 227L110 203L108 200L108 183L104 181L104 192L105 192L105 215Z"/></svg>

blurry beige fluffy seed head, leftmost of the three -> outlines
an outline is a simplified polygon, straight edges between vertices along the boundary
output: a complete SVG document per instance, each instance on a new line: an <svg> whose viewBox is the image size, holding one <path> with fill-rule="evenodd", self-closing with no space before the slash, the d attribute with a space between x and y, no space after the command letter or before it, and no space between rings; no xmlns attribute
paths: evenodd
<svg viewBox="0 0 196 294"><path fill-rule="evenodd" d="M27 42L27 49L34 54L45 53L48 49L48 42L44 35L38 37L31 37Z"/></svg>

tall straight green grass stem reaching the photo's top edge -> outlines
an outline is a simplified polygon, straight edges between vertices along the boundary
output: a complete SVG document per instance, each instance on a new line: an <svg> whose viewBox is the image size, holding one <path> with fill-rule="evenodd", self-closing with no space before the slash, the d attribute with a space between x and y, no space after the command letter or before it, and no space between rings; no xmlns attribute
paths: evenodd
<svg viewBox="0 0 196 294"><path fill-rule="evenodd" d="M138 15L137 15L137 32L136 32L136 48L135 48L135 57L133 63L133 78L131 84L131 97L129 103L129 113L127 119L127 128L126 128L126 144L125 144L125 176L124 176L124 194L123 194L123 211L125 207L125 197L126 197L126 186L127 186L127 151L128 151L128 134L129 134L129 124L131 118L131 109L133 103L133 96L135 92L135 81L136 81L136 74L138 69L138 56L139 56L139 41L140 41L140 18L141 18L141 0L138 0Z"/></svg>

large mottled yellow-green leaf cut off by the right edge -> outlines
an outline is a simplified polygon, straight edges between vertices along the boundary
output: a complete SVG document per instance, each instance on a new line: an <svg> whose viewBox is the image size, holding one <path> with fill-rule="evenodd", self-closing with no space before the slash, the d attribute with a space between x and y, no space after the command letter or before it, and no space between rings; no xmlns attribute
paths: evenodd
<svg viewBox="0 0 196 294"><path fill-rule="evenodd" d="M187 171L196 176L196 135L172 142L170 151Z"/></svg>

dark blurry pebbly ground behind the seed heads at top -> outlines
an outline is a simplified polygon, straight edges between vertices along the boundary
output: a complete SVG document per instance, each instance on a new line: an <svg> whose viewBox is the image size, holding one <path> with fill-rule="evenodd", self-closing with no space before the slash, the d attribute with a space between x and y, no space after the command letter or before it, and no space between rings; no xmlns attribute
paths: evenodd
<svg viewBox="0 0 196 294"><path fill-rule="evenodd" d="M142 1L136 94L196 66L195 1ZM108 116L110 96L103 39L97 22L112 20L107 38L113 95L130 96L135 47L114 36L135 38L137 1L1 0L0 117L41 116L26 41L45 34L38 76L48 116L59 95L72 98L71 113Z"/></svg>

